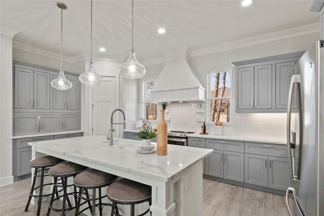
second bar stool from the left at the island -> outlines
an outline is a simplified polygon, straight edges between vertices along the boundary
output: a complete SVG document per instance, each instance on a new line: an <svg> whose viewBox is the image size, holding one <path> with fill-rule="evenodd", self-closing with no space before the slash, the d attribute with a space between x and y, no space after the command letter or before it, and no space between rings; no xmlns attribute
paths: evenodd
<svg viewBox="0 0 324 216"><path fill-rule="evenodd" d="M50 176L52 176L54 178L54 187L53 187L53 193L52 193L52 197L51 197L51 201L50 201L50 206L47 211L47 216L50 214L51 210L62 211L61 215L63 216L63 215L65 215L65 211L69 211L69 210L75 208L75 206L71 205L71 202L70 202L68 196L73 195L74 202L76 203L76 201L77 201L76 200L76 188L75 188L74 184L67 185L67 179L69 177L76 176L77 174L79 174L82 171L85 171L86 169L88 169L88 167L80 165L80 164L72 163L69 161L59 163L55 166L52 166L49 169ZM58 178L61 178L61 180L62 180L61 183L57 182ZM73 186L73 192L67 193L67 187L69 187L69 186ZM57 191L58 187L63 188L63 195L60 195L54 199L54 192ZM63 197L62 208L54 208L53 202L55 200L60 199L61 197ZM68 203L68 206L69 206L67 208L65 207L66 202Z"/></svg>

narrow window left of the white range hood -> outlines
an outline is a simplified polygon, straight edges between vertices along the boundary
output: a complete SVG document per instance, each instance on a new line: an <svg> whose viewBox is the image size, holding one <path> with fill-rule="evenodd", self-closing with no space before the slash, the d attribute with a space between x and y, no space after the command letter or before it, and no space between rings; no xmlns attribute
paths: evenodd
<svg viewBox="0 0 324 216"><path fill-rule="evenodd" d="M157 108L156 103L150 103L151 101L151 90L155 84L155 81L145 82L145 119L157 120Z"/></svg>

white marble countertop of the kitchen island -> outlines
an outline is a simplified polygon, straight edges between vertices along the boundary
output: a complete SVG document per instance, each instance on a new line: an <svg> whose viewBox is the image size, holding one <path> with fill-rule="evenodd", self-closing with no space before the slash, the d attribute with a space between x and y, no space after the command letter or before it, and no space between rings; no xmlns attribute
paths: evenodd
<svg viewBox="0 0 324 216"><path fill-rule="evenodd" d="M170 181L179 171L213 152L211 149L168 145L168 155L158 156L156 153L137 153L136 149L140 144L141 141L116 138L113 145L109 146L106 137L103 136L28 143L36 147L37 152L44 154L53 153L66 160L69 158L86 160L98 166L104 165L165 182Z"/></svg>

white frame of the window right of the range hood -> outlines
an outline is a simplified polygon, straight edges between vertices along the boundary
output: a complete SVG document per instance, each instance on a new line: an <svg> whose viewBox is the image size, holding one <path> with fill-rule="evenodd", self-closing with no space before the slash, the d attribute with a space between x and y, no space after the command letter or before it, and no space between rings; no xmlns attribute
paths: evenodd
<svg viewBox="0 0 324 216"><path fill-rule="evenodd" d="M223 98L212 98L211 97L211 73L222 73L222 72L230 72L231 74L231 97L223 97ZM208 102L207 102L207 107L208 107L208 123L210 124L214 124L215 122L214 121L211 121L211 101L212 100L219 100L219 99L229 99L229 102L230 102L230 109L229 109L229 116L230 116L230 121L229 122L223 122L223 124L226 124L226 125L231 125L233 123L233 112L232 112L232 106L233 106L233 70L232 68L224 68L224 69L217 69L217 70L209 70L208 71L208 77L207 77L207 97L208 97Z"/></svg>

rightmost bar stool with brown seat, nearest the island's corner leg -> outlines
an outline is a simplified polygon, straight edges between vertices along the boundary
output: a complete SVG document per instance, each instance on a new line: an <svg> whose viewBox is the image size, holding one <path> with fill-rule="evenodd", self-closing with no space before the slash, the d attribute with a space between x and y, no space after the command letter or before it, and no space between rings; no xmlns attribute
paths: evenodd
<svg viewBox="0 0 324 216"><path fill-rule="evenodd" d="M135 216L135 204L148 202L151 205L151 187L128 179L113 182L107 189L108 199L112 202L111 216L121 216L117 204L131 205L131 216ZM142 216L149 212L148 208Z"/></svg>

